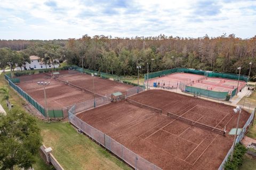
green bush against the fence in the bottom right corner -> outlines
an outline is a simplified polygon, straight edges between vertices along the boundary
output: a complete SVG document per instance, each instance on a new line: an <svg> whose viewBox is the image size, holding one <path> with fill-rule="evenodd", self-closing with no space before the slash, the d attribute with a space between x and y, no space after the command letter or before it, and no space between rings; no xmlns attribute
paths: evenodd
<svg viewBox="0 0 256 170"><path fill-rule="evenodd" d="M241 143L237 143L233 155L233 161L230 162L230 156L228 157L228 161L226 162L224 169L225 170L238 170L238 166L243 164L244 154L247 149Z"/></svg>

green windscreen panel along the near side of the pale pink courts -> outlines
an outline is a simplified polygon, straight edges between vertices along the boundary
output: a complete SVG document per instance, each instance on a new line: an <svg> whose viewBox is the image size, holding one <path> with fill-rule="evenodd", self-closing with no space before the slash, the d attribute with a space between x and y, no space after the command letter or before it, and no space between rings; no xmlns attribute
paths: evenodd
<svg viewBox="0 0 256 170"><path fill-rule="evenodd" d="M228 92L218 92L218 91L211 91L211 90L205 90L200 89L196 87L186 86L185 88L186 92L190 92L194 95L202 95L205 97L211 97L211 98L217 98L217 99L226 99L226 96L228 95Z"/></svg>

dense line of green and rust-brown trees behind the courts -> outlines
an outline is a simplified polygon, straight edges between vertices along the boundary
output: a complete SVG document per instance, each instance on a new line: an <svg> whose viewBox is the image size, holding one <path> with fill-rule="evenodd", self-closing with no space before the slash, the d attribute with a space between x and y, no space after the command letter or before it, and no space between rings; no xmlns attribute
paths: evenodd
<svg viewBox="0 0 256 170"><path fill-rule="evenodd" d="M27 45L21 48L22 44ZM3 46L12 50L20 47L22 53L37 55L45 63L59 59L82 66L84 56L85 68L117 75L136 75L138 65L141 66L140 73L146 73L147 63L153 72L188 67L238 73L237 67L241 66L241 73L248 75L250 62L250 77L256 74L256 36L241 39L234 34L211 38L207 35L199 38L84 35L79 39L68 40L0 40L0 47Z"/></svg>

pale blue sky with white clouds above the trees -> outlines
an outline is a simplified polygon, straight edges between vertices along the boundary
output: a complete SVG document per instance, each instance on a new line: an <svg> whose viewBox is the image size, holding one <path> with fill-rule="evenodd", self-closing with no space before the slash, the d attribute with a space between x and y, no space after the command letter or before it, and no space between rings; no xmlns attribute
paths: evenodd
<svg viewBox="0 0 256 170"><path fill-rule="evenodd" d="M1 0L0 39L256 35L256 1Z"/></svg>

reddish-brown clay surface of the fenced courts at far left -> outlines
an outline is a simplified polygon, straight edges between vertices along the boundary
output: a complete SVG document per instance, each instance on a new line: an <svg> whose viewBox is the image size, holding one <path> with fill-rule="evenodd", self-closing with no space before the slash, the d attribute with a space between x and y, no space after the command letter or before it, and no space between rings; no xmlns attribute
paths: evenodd
<svg viewBox="0 0 256 170"><path fill-rule="evenodd" d="M79 72L72 70L65 70L59 72L60 79L61 77L68 78L69 80L76 79L76 81L72 81L74 84L76 84L77 86L81 85L83 88L87 88L92 91L92 77L90 75L81 75ZM17 85L22 90L27 92L28 95L34 98L39 104L45 106L43 86L37 85L37 81L50 81L50 85L45 87L47 105L49 108L62 108L73 105L75 103L81 103L82 101L93 99L93 94L90 92L84 92L74 87L67 86L63 82L55 81L53 78L49 78L50 77L46 74L21 76L19 77L21 83L18 83ZM102 84L105 84L106 88L104 88ZM103 96L105 94L110 94L118 90L125 91L133 87L129 84L118 83L111 80L101 79L99 77L95 77L94 85L95 92Z"/></svg>

